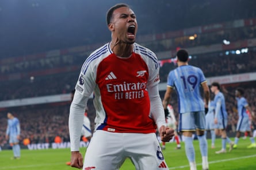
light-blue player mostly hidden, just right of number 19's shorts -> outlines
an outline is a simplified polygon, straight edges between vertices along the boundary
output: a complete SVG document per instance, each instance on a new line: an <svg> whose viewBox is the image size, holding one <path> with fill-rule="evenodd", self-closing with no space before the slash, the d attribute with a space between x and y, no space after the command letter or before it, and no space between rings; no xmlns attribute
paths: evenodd
<svg viewBox="0 0 256 170"><path fill-rule="evenodd" d="M205 124L205 135L207 135L207 131L210 131L211 133L211 139L212 139L212 148L215 148L215 123L214 123L214 115L215 115L215 106L214 102L210 101L208 105L208 112L205 116L206 124Z"/></svg>

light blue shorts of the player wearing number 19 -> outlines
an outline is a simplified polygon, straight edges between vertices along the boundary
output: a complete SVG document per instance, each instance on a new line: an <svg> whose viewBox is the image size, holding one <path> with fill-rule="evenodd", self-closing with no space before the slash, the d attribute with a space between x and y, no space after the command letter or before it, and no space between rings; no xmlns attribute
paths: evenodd
<svg viewBox="0 0 256 170"><path fill-rule="evenodd" d="M179 132L205 130L205 112L188 112L179 114Z"/></svg>

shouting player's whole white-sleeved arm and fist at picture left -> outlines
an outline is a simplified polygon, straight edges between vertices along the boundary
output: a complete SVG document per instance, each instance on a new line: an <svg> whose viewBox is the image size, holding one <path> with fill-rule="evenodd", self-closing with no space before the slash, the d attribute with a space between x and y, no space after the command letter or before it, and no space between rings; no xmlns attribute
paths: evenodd
<svg viewBox="0 0 256 170"><path fill-rule="evenodd" d="M89 59L87 58L87 60ZM83 157L79 153L83 115L87 101L95 88L95 68L92 62L85 61L70 105L68 128L70 131L71 167L79 169L83 167Z"/></svg>

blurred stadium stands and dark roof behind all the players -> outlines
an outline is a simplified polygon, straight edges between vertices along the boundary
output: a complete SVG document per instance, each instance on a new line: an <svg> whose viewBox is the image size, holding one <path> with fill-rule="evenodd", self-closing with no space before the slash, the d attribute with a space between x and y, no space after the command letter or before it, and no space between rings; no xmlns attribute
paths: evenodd
<svg viewBox="0 0 256 170"><path fill-rule="evenodd" d="M83 61L110 41L106 11L121 1L0 0L0 145L7 148L7 112L21 122L21 140L69 141L70 92ZM256 7L253 0L125 1L136 14L137 43L159 58L161 97L167 75L185 48L189 64L226 95L228 132L238 120L235 88L256 111ZM232 94L232 95L231 95ZM177 97L173 94L177 114ZM89 100L91 128L95 110ZM178 114L177 114L178 116ZM253 127L254 128L254 127ZM24 146L25 147L25 146Z"/></svg>

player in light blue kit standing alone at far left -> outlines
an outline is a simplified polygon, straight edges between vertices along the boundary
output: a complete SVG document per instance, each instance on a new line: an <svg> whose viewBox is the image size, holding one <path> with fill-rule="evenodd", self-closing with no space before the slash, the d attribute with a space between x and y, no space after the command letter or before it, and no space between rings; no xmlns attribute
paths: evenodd
<svg viewBox="0 0 256 170"><path fill-rule="evenodd" d="M6 140L9 139L9 144L13 148L13 158L20 159L21 157L21 148L19 144L20 140L20 121L17 117L14 117L12 113L7 113L8 123L6 128Z"/></svg>

